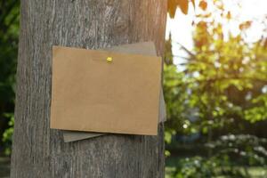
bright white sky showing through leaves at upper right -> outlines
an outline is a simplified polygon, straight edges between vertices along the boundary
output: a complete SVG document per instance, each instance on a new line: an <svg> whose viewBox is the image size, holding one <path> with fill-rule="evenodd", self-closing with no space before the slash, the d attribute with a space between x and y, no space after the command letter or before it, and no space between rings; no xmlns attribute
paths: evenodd
<svg viewBox="0 0 267 178"><path fill-rule="evenodd" d="M214 10L211 5L212 0L207 0L207 9L210 11ZM231 12L231 22L223 22L223 33L227 36L228 31L231 34L238 35L240 23L251 20L253 24L249 30L247 30L246 38L247 42L255 42L261 36L267 36L266 29L267 22L267 1L266 0L224 0L225 12ZM171 19L168 15L166 24L166 39L169 34L172 35L173 40L173 53L174 53L174 64L178 65L178 69L182 70L183 67L179 66L184 61L182 58L177 56L186 56L186 53L180 49L180 44L191 50L193 47L192 32L194 27L192 22L196 20L196 15L201 9L198 7L199 0L196 0L196 8L193 5L189 5L188 14L183 14L180 9L176 10L174 19ZM220 20L220 14L218 14L218 20ZM263 22L265 20L265 22ZM176 57L175 57L176 56Z"/></svg>

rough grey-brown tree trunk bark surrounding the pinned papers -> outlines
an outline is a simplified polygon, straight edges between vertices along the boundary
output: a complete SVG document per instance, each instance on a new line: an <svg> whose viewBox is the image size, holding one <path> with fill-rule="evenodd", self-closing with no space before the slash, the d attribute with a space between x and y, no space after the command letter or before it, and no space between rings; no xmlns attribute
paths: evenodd
<svg viewBox="0 0 267 178"><path fill-rule="evenodd" d="M163 125L158 136L64 143L49 117L52 45L95 49L152 40L161 55L166 0L22 0L20 10L11 177L164 177Z"/></svg>

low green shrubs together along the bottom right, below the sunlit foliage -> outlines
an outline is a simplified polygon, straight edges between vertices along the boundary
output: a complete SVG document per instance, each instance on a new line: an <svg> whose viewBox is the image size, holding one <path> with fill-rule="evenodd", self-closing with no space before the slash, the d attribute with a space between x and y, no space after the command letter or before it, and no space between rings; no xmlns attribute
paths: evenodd
<svg viewBox="0 0 267 178"><path fill-rule="evenodd" d="M244 163L249 166L265 165L266 143L266 139L251 135L223 135L216 142L207 145L216 150L211 158L197 156L180 159L174 177L251 177Z"/></svg>

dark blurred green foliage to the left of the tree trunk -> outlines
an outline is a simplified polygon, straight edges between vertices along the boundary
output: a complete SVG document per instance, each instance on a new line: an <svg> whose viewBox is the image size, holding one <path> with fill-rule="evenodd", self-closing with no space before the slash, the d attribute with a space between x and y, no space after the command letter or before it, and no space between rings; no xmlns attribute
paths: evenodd
<svg viewBox="0 0 267 178"><path fill-rule="evenodd" d="M19 15L20 1L0 2L0 151L11 146Z"/></svg>

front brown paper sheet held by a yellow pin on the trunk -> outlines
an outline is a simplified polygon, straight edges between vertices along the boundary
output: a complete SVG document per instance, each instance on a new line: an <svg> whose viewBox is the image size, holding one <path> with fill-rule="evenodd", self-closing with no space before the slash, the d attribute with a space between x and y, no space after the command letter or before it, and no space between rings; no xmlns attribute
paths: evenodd
<svg viewBox="0 0 267 178"><path fill-rule="evenodd" d="M156 135L160 81L150 54L54 46L51 128Z"/></svg>

